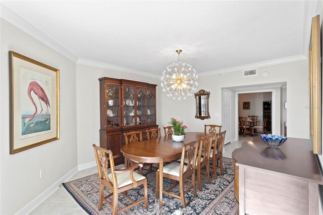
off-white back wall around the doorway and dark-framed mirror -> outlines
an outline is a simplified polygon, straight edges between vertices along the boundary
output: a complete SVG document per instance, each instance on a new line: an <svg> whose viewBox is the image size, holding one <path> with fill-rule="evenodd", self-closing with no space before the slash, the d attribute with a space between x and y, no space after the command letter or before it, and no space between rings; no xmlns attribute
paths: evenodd
<svg viewBox="0 0 323 215"><path fill-rule="evenodd" d="M194 65L193 65L194 66ZM195 68L198 71L198 68ZM270 75L263 77L264 71L270 72ZM243 77L242 71L224 73L221 76L211 75L200 77L198 79L199 89L210 91L209 113L211 118L208 120L195 119L195 100L194 97L188 97L185 100L173 100L167 97L166 93L160 91L161 104L168 104L171 108L162 109L160 116L160 125L166 125L171 117L183 119L184 124L188 126L188 131L203 131L204 124L222 124L221 119L221 89L233 86L245 86L254 84L266 84L287 82L287 100L290 109L287 113L289 121L289 136L298 138L309 138L309 118L295 118L295 116L308 116L308 62L307 60L277 64L258 68L258 75ZM160 82L159 82L160 83ZM276 99L280 103L280 88L275 88ZM276 110L277 117L280 118L280 106ZM302 125L302 126L299 126ZM280 132L280 121L276 126ZM231 134L234 135L233 131ZM234 137L234 136L232 136Z"/></svg>

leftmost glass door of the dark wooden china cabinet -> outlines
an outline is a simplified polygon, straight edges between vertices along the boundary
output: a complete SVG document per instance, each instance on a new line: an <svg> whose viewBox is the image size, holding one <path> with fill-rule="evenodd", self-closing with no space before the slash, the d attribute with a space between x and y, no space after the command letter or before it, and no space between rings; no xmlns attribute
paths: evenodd
<svg viewBox="0 0 323 215"><path fill-rule="evenodd" d="M120 85L106 84L107 128L120 127Z"/></svg>

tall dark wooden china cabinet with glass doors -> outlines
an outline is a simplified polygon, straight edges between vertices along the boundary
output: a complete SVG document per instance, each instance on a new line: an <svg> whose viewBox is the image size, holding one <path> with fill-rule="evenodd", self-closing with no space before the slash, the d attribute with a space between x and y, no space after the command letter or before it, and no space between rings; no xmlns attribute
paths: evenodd
<svg viewBox="0 0 323 215"><path fill-rule="evenodd" d="M110 149L116 165L123 164L124 133L158 128L156 86L138 81L100 78L100 147ZM143 139L147 139L143 133Z"/></svg>

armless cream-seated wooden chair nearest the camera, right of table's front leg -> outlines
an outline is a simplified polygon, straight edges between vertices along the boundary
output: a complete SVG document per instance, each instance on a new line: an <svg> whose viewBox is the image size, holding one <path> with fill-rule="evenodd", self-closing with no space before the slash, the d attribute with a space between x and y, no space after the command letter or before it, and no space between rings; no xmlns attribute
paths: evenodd
<svg viewBox="0 0 323 215"><path fill-rule="evenodd" d="M169 165L166 165L163 170L163 177L172 179L174 181L178 181L178 183L174 183L174 186L170 189L164 191L163 193L173 196L175 198L179 198L182 201L182 206L186 207L185 202L185 194L188 193L191 189L193 189L194 197L197 196L196 194L196 185L195 185L195 163L196 163L196 155L197 149L199 146L199 140L195 140L189 143L185 143L182 148L182 155L181 155L181 163L173 162ZM184 160L187 158L188 163L184 165ZM189 179L191 177L191 179ZM184 182L188 181L191 185ZM170 191L179 185L180 195L175 195ZM188 187L185 190L185 187ZM159 193L159 170L156 171L156 194Z"/></svg>

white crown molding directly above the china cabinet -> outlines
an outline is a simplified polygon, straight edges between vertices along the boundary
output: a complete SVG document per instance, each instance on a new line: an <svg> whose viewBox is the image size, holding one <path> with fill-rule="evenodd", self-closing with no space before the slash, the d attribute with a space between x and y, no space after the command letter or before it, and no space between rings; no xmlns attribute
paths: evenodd
<svg viewBox="0 0 323 215"><path fill-rule="evenodd" d="M111 64L90 61L90 60L81 59L81 58L79 58L76 63L91 66L91 67L99 67L99 68L109 69L109 70L113 70L113 71L119 71L119 72L135 74L135 75L146 76L146 77L150 77L150 78L159 78L159 75L155 75L155 74L151 74L151 73L147 73L147 72L142 72L142 71L138 71L138 70L133 70L133 69L128 69L128 68L124 68L124 67L118 67L118 66L111 65Z"/></svg>

